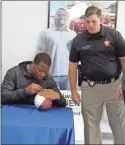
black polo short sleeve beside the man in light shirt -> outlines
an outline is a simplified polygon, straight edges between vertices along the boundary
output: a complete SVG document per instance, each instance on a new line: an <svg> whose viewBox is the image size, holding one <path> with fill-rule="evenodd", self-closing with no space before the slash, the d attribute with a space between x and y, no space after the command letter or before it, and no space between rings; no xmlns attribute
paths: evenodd
<svg viewBox="0 0 125 145"><path fill-rule="evenodd" d="M80 52L76 51L74 40L72 42L72 46L71 46L71 50L70 50L69 61L74 62L74 63L80 61Z"/></svg>

